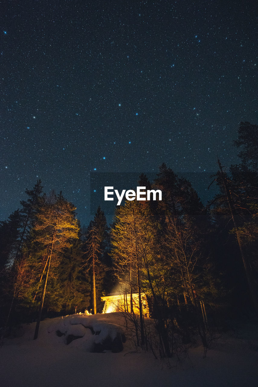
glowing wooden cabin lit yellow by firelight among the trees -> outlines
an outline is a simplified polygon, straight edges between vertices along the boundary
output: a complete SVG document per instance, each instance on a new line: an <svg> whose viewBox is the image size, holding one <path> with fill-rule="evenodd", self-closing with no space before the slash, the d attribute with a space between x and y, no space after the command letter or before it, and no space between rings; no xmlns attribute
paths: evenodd
<svg viewBox="0 0 258 387"><path fill-rule="evenodd" d="M139 314L139 297L138 293L133 293L133 312ZM142 310L144 317L149 317L149 307L146 295L141 293ZM111 312L130 312L130 293L121 293L116 295L109 295L101 297L101 301L105 302L102 313Z"/></svg>

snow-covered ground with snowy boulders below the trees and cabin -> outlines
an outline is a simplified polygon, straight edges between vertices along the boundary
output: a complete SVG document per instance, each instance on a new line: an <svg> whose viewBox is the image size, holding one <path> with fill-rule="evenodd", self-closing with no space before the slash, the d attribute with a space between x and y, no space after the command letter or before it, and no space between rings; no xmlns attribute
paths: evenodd
<svg viewBox="0 0 258 387"><path fill-rule="evenodd" d="M0 349L2 387L258 386L257 325L216 339L205 359L201 346L190 349L183 369L168 369L151 353L135 351L121 313L46 319L37 340L35 324L24 325L20 337L5 339ZM89 352L108 336L122 336L123 330L127 340L121 352ZM83 337L67 345L70 334Z"/></svg>

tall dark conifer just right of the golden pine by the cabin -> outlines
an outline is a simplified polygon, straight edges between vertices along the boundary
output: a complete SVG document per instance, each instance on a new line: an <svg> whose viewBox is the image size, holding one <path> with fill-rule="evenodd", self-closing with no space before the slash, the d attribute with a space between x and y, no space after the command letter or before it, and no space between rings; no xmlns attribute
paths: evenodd
<svg viewBox="0 0 258 387"><path fill-rule="evenodd" d="M157 215L160 231L157 235L159 241L159 265L166 267L164 272L164 283L166 298L161 297L163 306L162 330L166 337L163 326L168 325L168 305L179 304L181 296L188 296L194 308L196 328L202 339L203 346L207 348L206 329L203 326L202 310L196 302L196 295L201 293L200 283L195 279L198 277L205 282L205 271L200 259L200 245L204 236L207 235L209 221L207 211L204 208L197 192L191 183L185 178L179 178L166 164L159 168L157 178L153 187L162 190L162 201L157 206ZM203 242L202 242L203 245ZM198 246L198 254L196 249ZM202 246L204 252L205 247ZM206 257L207 258L207 257ZM198 265L197 265L198 262ZM198 267L198 270L197 270ZM173 324L171 324L173 326Z"/></svg>

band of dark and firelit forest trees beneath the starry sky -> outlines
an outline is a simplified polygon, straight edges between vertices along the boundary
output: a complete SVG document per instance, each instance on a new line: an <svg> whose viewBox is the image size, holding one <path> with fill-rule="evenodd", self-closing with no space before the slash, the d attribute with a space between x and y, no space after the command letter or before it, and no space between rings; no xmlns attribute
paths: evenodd
<svg viewBox="0 0 258 387"><path fill-rule="evenodd" d="M126 200L110 228L100 208L82 229L62 192L47 197L40 181L27 190L0 222L2 335L21 322L101 313L100 297L118 281L147 296L161 356L172 355L175 333L182 342L198 334L208 348L227 320L257 319L258 126L241 122L234 143L239 164L227 174L217 160L219 194L206 207L166 164L153 182L138 181L162 190L162 200ZM138 331L146 345L141 305Z"/></svg>

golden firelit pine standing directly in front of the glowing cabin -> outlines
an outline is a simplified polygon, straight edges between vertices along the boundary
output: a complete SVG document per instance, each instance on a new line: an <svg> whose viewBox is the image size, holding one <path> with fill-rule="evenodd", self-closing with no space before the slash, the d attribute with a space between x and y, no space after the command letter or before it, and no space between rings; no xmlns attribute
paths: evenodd
<svg viewBox="0 0 258 387"><path fill-rule="evenodd" d="M127 283L130 289L130 313L133 312L132 293L137 291L139 299L141 345L145 343L142 290L148 283L146 270L152 265L154 246L154 226L149 222L148 209L137 201L125 201L116 211L116 222L111 230L112 258L115 274L121 283ZM148 274L147 274L148 276ZM143 280L144 279L144 280ZM150 275L149 275L150 279ZM152 285L152 283L151 283ZM144 289L147 291L147 289ZM149 283L148 283L148 290Z"/></svg>

